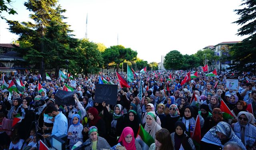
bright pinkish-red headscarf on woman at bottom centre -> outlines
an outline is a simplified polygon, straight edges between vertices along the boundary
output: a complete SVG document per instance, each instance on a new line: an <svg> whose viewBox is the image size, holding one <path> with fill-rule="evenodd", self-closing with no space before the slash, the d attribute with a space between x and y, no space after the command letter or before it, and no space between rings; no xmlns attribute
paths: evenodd
<svg viewBox="0 0 256 150"><path fill-rule="evenodd" d="M132 141L130 143L127 143L126 140L125 140L125 137L128 135L128 134L131 134L132 135ZM135 147L135 138L134 138L134 133L133 133L133 130L132 128L130 127L126 127L124 128L118 142L122 142L122 146L124 146L126 148L126 150L136 150L136 147Z"/></svg>

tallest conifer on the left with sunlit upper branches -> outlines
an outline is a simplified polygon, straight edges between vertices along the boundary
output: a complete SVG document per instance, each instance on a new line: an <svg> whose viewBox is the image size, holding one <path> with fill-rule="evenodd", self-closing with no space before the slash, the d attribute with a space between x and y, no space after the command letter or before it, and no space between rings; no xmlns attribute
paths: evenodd
<svg viewBox="0 0 256 150"><path fill-rule="evenodd" d="M51 42L46 37L48 27L51 26L51 22L57 22L60 26L68 28L68 25L62 22L64 16L61 15L66 10L57 6L57 0L28 0L24 6L31 12L30 18L35 23L19 23L12 20L7 20L7 23L10 32L20 36L18 40L24 46L21 49L25 54L24 59L39 68L39 73L44 78L46 65L50 63L50 56L54 54L54 50L49 46Z"/></svg>

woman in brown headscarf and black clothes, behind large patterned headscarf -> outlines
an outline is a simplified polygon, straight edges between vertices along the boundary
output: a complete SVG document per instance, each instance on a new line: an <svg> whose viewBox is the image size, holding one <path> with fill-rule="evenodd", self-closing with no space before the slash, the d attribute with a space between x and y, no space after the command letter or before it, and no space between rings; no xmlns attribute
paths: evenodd
<svg viewBox="0 0 256 150"><path fill-rule="evenodd" d="M206 132L208 132L212 127L216 126L218 122L225 121L222 117L222 111L220 108L214 108L212 110L212 117L208 117L204 120L204 126L201 130L202 137ZM225 121L226 122L226 121Z"/></svg>

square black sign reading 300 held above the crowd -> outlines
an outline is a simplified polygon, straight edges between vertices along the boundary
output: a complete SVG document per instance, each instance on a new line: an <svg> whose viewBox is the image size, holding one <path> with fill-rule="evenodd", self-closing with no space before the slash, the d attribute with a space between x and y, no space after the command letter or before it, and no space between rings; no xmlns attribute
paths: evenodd
<svg viewBox="0 0 256 150"><path fill-rule="evenodd" d="M94 102L116 105L117 85L96 84Z"/></svg>

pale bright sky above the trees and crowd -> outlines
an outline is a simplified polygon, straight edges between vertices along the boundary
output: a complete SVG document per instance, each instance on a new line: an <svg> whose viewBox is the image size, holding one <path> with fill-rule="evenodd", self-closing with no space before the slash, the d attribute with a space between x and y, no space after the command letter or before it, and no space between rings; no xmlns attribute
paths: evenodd
<svg viewBox="0 0 256 150"><path fill-rule="evenodd" d="M8 20L32 21L23 5L27 0L12 0L16 15L2 13ZM239 16L242 0L59 0L66 9L65 22L75 38L84 38L88 14L88 38L107 48L123 45L138 52L138 58L160 62L171 50L195 54L220 42L240 41L241 27L232 22ZM0 20L0 43L10 43L18 36ZM118 37L118 40L117 40Z"/></svg>

